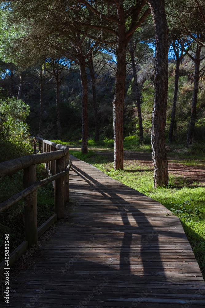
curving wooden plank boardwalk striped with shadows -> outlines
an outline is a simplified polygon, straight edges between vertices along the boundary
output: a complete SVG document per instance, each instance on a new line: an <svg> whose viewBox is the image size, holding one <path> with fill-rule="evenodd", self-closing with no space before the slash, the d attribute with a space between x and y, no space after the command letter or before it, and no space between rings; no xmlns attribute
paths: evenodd
<svg viewBox="0 0 205 308"><path fill-rule="evenodd" d="M92 165L70 159L73 218L56 223L41 260L15 278L16 293L1 306L205 307L205 283L179 219Z"/></svg>

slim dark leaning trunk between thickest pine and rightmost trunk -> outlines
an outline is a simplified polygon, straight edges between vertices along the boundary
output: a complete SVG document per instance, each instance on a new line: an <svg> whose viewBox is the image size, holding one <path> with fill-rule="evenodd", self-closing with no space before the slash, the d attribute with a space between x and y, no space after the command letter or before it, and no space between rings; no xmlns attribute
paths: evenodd
<svg viewBox="0 0 205 308"><path fill-rule="evenodd" d="M171 111L171 121L169 126L169 142L173 139L173 128L174 128L174 120L176 114L176 103L177 103L177 94L178 94L178 85L179 85L179 67L180 67L180 59L176 60L176 68L175 68L175 82L174 82L174 96L172 103L172 111Z"/></svg>

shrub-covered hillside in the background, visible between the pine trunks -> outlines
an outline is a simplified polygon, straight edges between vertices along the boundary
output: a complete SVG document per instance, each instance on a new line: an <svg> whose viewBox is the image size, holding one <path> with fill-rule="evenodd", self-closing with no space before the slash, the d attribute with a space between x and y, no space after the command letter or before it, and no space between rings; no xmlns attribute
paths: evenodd
<svg viewBox="0 0 205 308"><path fill-rule="evenodd" d="M141 91L141 111L143 120L143 134L145 144L150 143L151 136L151 116L154 96L154 58L143 63L138 71L138 83ZM203 65L203 63L202 63ZM191 99L193 91L193 72L194 62L185 57L180 65L179 91L177 98L176 117L173 133L173 144L180 145L183 149L186 141L188 125L191 115ZM66 75L66 74L65 74ZM89 74L88 87L88 137L94 138L94 113L92 87ZM168 104L167 104L167 122L166 138L168 141L168 130L171 118L174 78L175 78L175 61L170 59L168 64ZM132 75L127 75L126 92L124 98L124 138L128 136L139 135L139 124L136 107L136 96L134 91L134 82ZM2 79L1 86L3 90L2 99L6 98L9 91L9 80ZM15 91L18 93L19 79L15 78ZM97 108L99 120L100 141L113 139L113 107L112 100L114 97L114 77L104 67L104 71L97 79ZM55 84L47 83L43 87L43 121L41 136L48 139L56 139L56 102L55 102ZM38 135L39 129L39 88L36 83L29 80L23 87L22 100L30 106L30 114L27 122L30 126L31 135ZM81 81L78 69L75 67L73 72L69 72L64 77L60 86L60 117L62 127L62 141L73 142L81 140ZM195 143L197 149L203 148L205 138L205 77L199 79L199 92L197 102L197 116L195 122L195 132L193 138L193 148ZM138 142L139 144L139 142ZM136 144L137 145L137 144ZM196 149L195 149L196 150ZM195 151L194 150L194 151Z"/></svg>

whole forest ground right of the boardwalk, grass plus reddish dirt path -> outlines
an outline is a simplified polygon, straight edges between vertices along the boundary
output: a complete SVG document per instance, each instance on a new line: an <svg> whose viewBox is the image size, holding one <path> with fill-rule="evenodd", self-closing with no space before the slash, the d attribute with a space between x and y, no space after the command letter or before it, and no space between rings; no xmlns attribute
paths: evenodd
<svg viewBox="0 0 205 308"><path fill-rule="evenodd" d="M167 209L179 210L184 231L205 279L205 159L203 156L168 153L169 185L153 188L152 155L148 150L124 150L124 170L113 170L113 149L69 145L70 154L93 164L112 178L159 201ZM190 213L189 216L188 212Z"/></svg>

